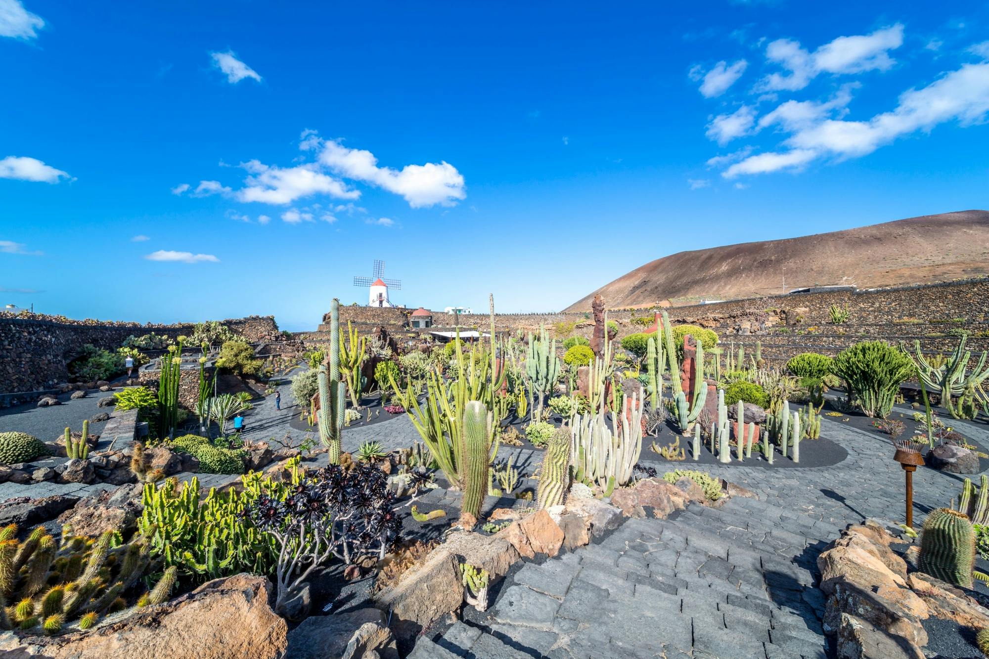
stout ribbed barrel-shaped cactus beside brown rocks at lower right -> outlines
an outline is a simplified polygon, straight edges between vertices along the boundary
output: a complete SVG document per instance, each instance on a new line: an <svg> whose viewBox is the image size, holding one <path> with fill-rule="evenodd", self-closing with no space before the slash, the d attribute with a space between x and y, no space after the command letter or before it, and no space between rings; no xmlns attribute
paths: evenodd
<svg viewBox="0 0 989 659"><path fill-rule="evenodd" d="M921 535L921 571L971 588L974 563L975 531L968 517L946 508L932 511Z"/></svg>

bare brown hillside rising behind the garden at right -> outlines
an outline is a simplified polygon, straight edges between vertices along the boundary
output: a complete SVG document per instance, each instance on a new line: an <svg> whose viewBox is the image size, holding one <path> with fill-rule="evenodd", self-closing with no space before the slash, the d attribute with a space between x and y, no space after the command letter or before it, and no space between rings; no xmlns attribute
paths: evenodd
<svg viewBox="0 0 989 659"><path fill-rule="evenodd" d="M786 289L926 284L989 273L989 212L959 211L829 234L681 251L605 284L564 311L661 300L778 295Z"/></svg>

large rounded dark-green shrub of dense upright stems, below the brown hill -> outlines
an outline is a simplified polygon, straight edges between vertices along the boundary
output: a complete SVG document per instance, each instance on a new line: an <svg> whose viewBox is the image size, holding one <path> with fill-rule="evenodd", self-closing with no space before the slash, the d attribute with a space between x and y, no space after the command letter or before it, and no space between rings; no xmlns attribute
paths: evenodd
<svg viewBox="0 0 989 659"><path fill-rule="evenodd" d="M845 380L866 417L885 419L900 384L915 372L910 357L885 341L861 341L835 357L834 373Z"/></svg>

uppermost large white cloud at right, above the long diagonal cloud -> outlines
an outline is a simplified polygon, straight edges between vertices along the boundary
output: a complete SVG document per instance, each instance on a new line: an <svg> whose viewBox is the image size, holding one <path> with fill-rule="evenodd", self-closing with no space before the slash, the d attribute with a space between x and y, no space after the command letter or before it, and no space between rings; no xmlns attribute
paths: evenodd
<svg viewBox="0 0 989 659"><path fill-rule="evenodd" d="M896 63L889 50L903 45L903 26L876 30L870 35L839 37L813 53L790 39L777 39L765 47L765 58L776 62L788 74L771 73L759 84L762 91L803 89L819 73L861 73L888 70Z"/></svg>

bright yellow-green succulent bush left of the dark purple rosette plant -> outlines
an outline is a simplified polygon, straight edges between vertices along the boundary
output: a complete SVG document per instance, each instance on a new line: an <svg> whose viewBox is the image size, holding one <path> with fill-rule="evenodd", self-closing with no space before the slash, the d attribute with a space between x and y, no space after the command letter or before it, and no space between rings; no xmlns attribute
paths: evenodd
<svg viewBox="0 0 989 659"><path fill-rule="evenodd" d="M211 488L202 500L197 478L181 486L174 478L160 486L146 483L137 527L148 539L151 557L166 568L176 567L179 578L193 583L238 572L270 574L278 545L243 512L262 491L277 491L279 484L257 474L243 482L242 493Z"/></svg>

